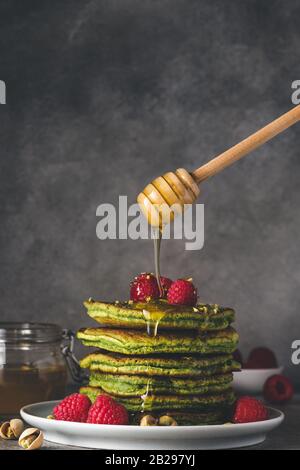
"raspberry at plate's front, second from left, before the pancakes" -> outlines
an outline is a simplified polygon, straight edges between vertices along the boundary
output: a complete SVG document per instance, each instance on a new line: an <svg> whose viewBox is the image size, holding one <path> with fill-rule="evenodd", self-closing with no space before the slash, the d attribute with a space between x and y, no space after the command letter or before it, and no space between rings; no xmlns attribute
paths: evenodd
<svg viewBox="0 0 300 470"><path fill-rule="evenodd" d="M128 413L123 405L107 395L99 395L91 406L87 423L128 424Z"/></svg>

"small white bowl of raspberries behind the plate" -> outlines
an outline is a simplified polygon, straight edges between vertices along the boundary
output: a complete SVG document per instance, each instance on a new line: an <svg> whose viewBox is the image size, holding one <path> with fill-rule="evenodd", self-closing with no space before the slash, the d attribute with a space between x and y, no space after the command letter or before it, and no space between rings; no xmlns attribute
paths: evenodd
<svg viewBox="0 0 300 470"><path fill-rule="evenodd" d="M233 373L233 388L243 395L257 395L263 392L264 385L272 375L281 374L283 367L277 369L242 369Z"/></svg>

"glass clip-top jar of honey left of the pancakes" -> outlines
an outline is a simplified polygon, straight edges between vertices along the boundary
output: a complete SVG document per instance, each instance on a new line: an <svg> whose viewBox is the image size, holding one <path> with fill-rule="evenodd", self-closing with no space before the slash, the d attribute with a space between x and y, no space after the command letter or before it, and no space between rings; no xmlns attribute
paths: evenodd
<svg viewBox="0 0 300 470"><path fill-rule="evenodd" d="M70 341L54 324L0 322L0 416L65 396Z"/></svg>

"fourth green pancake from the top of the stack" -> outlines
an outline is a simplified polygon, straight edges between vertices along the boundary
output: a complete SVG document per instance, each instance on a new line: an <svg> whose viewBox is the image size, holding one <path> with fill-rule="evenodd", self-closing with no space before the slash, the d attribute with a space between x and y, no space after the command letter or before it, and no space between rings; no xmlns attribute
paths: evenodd
<svg viewBox="0 0 300 470"><path fill-rule="evenodd" d="M100 387L118 397L151 395L210 395L222 393L231 387L232 373L201 379L145 377L143 375L115 375L92 373L90 386Z"/></svg>

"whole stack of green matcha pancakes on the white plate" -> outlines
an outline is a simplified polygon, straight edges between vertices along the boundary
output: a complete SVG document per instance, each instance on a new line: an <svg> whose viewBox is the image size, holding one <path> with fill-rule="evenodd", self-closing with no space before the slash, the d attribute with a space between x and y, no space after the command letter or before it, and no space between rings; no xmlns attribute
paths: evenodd
<svg viewBox="0 0 300 470"><path fill-rule="evenodd" d="M148 303L84 303L102 326L77 337L97 348L81 361L90 370L81 393L94 401L113 396L138 422L143 414L170 415L178 424L226 420L235 396L232 372L238 335L234 311L218 305L172 306Z"/></svg>

